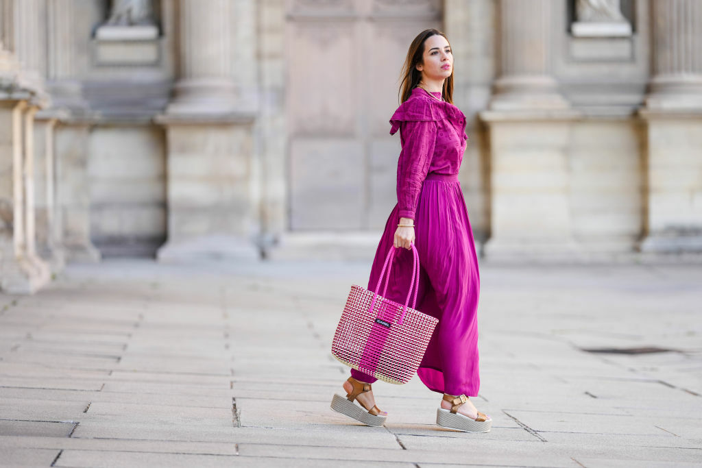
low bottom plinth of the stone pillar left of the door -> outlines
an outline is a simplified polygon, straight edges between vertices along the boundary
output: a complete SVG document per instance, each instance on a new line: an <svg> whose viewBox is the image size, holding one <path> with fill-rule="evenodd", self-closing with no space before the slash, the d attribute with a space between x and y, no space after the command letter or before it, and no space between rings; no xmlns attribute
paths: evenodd
<svg viewBox="0 0 702 468"><path fill-rule="evenodd" d="M237 236L209 235L183 241L167 241L156 255L159 262L196 260L260 260L260 249Z"/></svg>

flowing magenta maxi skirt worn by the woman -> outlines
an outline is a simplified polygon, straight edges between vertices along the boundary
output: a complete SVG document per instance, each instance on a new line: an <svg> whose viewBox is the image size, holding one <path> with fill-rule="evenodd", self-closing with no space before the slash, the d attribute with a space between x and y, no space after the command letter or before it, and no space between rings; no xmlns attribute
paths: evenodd
<svg viewBox="0 0 702 468"><path fill-rule="evenodd" d="M378 243L369 290L376 288L398 223L395 206ZM427 175L414 224L421 266L416 308L439 319L417 374L434 392L477 396L480 387L477 348L480 276L458 175ZM395 255L388 299L404 304L411 276L412 252L402 249ZM376 381L375 377L358 370L352 370L351 375L363 382Z"/></svg>

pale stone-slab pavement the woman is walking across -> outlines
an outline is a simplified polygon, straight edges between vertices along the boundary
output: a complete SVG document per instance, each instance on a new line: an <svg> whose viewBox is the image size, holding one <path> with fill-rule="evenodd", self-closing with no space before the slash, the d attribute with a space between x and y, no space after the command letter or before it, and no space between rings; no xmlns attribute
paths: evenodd
<svg viewBox="0 0 702 468"><path fill-rule="evenodd" d="M482 265L489 434L434 424L415 378L364 427L329 354L368 265L73 265L0 295L0 464L685 467L702 464L702 267ZM616 354L583 349L667 352ZM362 464L359 464L362 462Z"/></svg>

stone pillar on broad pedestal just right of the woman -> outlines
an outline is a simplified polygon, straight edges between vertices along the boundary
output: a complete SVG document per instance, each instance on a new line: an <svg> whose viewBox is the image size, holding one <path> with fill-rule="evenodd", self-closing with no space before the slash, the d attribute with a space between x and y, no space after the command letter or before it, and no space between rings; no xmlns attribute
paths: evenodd
<svg viewBox="0 0 702 468"><path fill-rule="evenodd" d="M501 0L501 74L489 110L488 258L571 257L568 152L577 118L551 74L551 0Z"/></svg>

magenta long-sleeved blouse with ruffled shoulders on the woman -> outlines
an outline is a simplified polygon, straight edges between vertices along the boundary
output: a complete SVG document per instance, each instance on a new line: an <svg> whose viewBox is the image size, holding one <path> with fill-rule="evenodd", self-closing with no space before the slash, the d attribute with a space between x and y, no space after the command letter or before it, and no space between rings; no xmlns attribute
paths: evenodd
<svg viewBox="0 0 702 468"><path fill-rule="evenodd" d="M441 93L432 93L437 98ZM458 175L468 135L461 109L414 88L390 118L390 135L399 129L402 151L397 162L397 206L401 218L414 219L428 173Z"/></svg>

